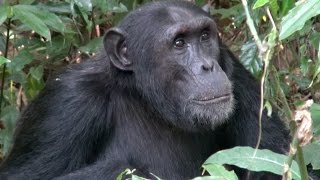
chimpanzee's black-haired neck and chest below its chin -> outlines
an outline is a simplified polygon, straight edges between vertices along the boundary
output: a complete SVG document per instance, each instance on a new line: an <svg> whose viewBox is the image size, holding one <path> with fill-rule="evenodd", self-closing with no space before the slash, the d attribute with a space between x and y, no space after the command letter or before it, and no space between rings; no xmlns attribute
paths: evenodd
<svg viewBox="0 0 320 180"><path fill-rule="evenodd" d="M111 103L116 130L111 146L118 148L112 148L117 152L109 152L109 156L117 153L117 157L138 162L129 164L133 168L150 167L148 171L165 179L193 178L200 175L202 163L218 149L213 134L169 127L161 116L149 112L152 108L143 104L141 97L132 93L118 92L112 95ZM168 174L157 174L161 172Z"/></svg>

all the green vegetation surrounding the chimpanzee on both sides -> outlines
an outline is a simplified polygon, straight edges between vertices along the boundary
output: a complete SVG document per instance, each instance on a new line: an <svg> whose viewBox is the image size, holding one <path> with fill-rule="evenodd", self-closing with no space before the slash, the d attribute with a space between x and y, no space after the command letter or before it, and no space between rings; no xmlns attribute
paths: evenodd
<svg viewBox="0 0 320 180"><path fill-rule="evenodd" d="M5 0L0 5L1 158L10 149L21 110L41 91L46 79L62 66L98 53L105 30L146 2ZM263 107L269 114L276 108L290 124L293 136L288 156L236 147L211 156L203 165L210 176L195 179L237 179L223 164L277 174L289 170L287 179L305 179L305 165L311 164L320 174L320 1L195 3L217 17L221 38L261 79ZM307 101L311 99L313 104ZM308 113L313 124L310 131L303 129L311 123ZM132 175L132 179L143 178Z"/></svg>

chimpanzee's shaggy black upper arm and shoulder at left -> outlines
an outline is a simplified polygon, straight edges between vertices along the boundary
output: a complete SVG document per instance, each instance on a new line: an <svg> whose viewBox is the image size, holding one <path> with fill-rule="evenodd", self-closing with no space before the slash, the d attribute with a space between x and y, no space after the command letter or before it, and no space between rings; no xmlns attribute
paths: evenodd
<svg viewBox="0 0 320 180"><path fill-rule="evenodd" d="M110 123L104 69L91 63L97 66L73 66L48 82L24 111L0 174L50 179L94 161Z"/></svg>

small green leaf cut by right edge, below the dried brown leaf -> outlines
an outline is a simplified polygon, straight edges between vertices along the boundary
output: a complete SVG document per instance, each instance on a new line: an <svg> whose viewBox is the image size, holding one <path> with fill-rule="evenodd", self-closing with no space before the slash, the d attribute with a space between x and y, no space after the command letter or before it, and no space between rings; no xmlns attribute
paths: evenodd
<svg viewBox="0 0 320 180"><path fill-rule="evenodd" d="M312 143L303 147L306 165L312 164L313 169L320 169L320 144Z"/></svg>

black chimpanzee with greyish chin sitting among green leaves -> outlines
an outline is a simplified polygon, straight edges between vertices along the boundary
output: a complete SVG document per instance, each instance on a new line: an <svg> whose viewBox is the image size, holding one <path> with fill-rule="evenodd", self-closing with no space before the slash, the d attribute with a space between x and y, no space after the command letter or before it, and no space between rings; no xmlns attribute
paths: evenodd
<svg viewBox="0 0 320 180"><path fill-rule="evenodd" d="M115 179L201 174L218 150L255 146L259 84L191 3L160 1L106 32L99 57L68 67L24 111L3 179ZM289 133L263 115L260 148L288 151ZM275 178L232 167L240 179ZM274 177L273 177L274 176Z"/></svg>

